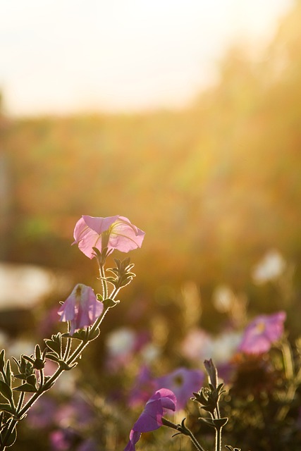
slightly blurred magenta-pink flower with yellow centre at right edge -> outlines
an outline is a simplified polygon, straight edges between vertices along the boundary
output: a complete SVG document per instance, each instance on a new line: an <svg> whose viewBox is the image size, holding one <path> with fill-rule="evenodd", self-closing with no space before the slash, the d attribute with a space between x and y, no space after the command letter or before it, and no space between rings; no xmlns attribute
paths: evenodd
<svg viewBox="0 0 301 451"><path fill-rule="evenodd" d="M246 354L268 352L271 345L283 334L285 312L278 311L272 315L259 315L245 329L238 350Z"/></svg>

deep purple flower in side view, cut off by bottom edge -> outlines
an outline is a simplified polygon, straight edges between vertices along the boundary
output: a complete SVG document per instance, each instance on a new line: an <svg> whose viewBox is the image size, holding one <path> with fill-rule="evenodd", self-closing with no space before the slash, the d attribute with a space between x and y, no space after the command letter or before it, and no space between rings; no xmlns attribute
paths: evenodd
<svg viewBox="0 0 301 451"><path fill-rule="evenodd" d="M176 396L171 390L161 388L149 398L145 409L130 431L130 440L124 451L135 451L135 444L142 432L155 431L162 426L164 409L176 410Z"/></svg>

